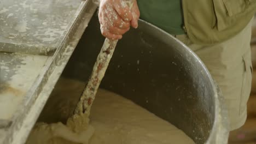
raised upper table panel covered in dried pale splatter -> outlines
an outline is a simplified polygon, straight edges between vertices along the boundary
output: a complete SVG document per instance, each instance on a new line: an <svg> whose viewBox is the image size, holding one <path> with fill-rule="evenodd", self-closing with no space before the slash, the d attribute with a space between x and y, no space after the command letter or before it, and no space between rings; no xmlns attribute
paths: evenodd
<svg viewBox="0 0 256 144"><path fill-rule="evenodd" d="M57 49L80 0L1 0L0 51L47 53Z"/></svg>

